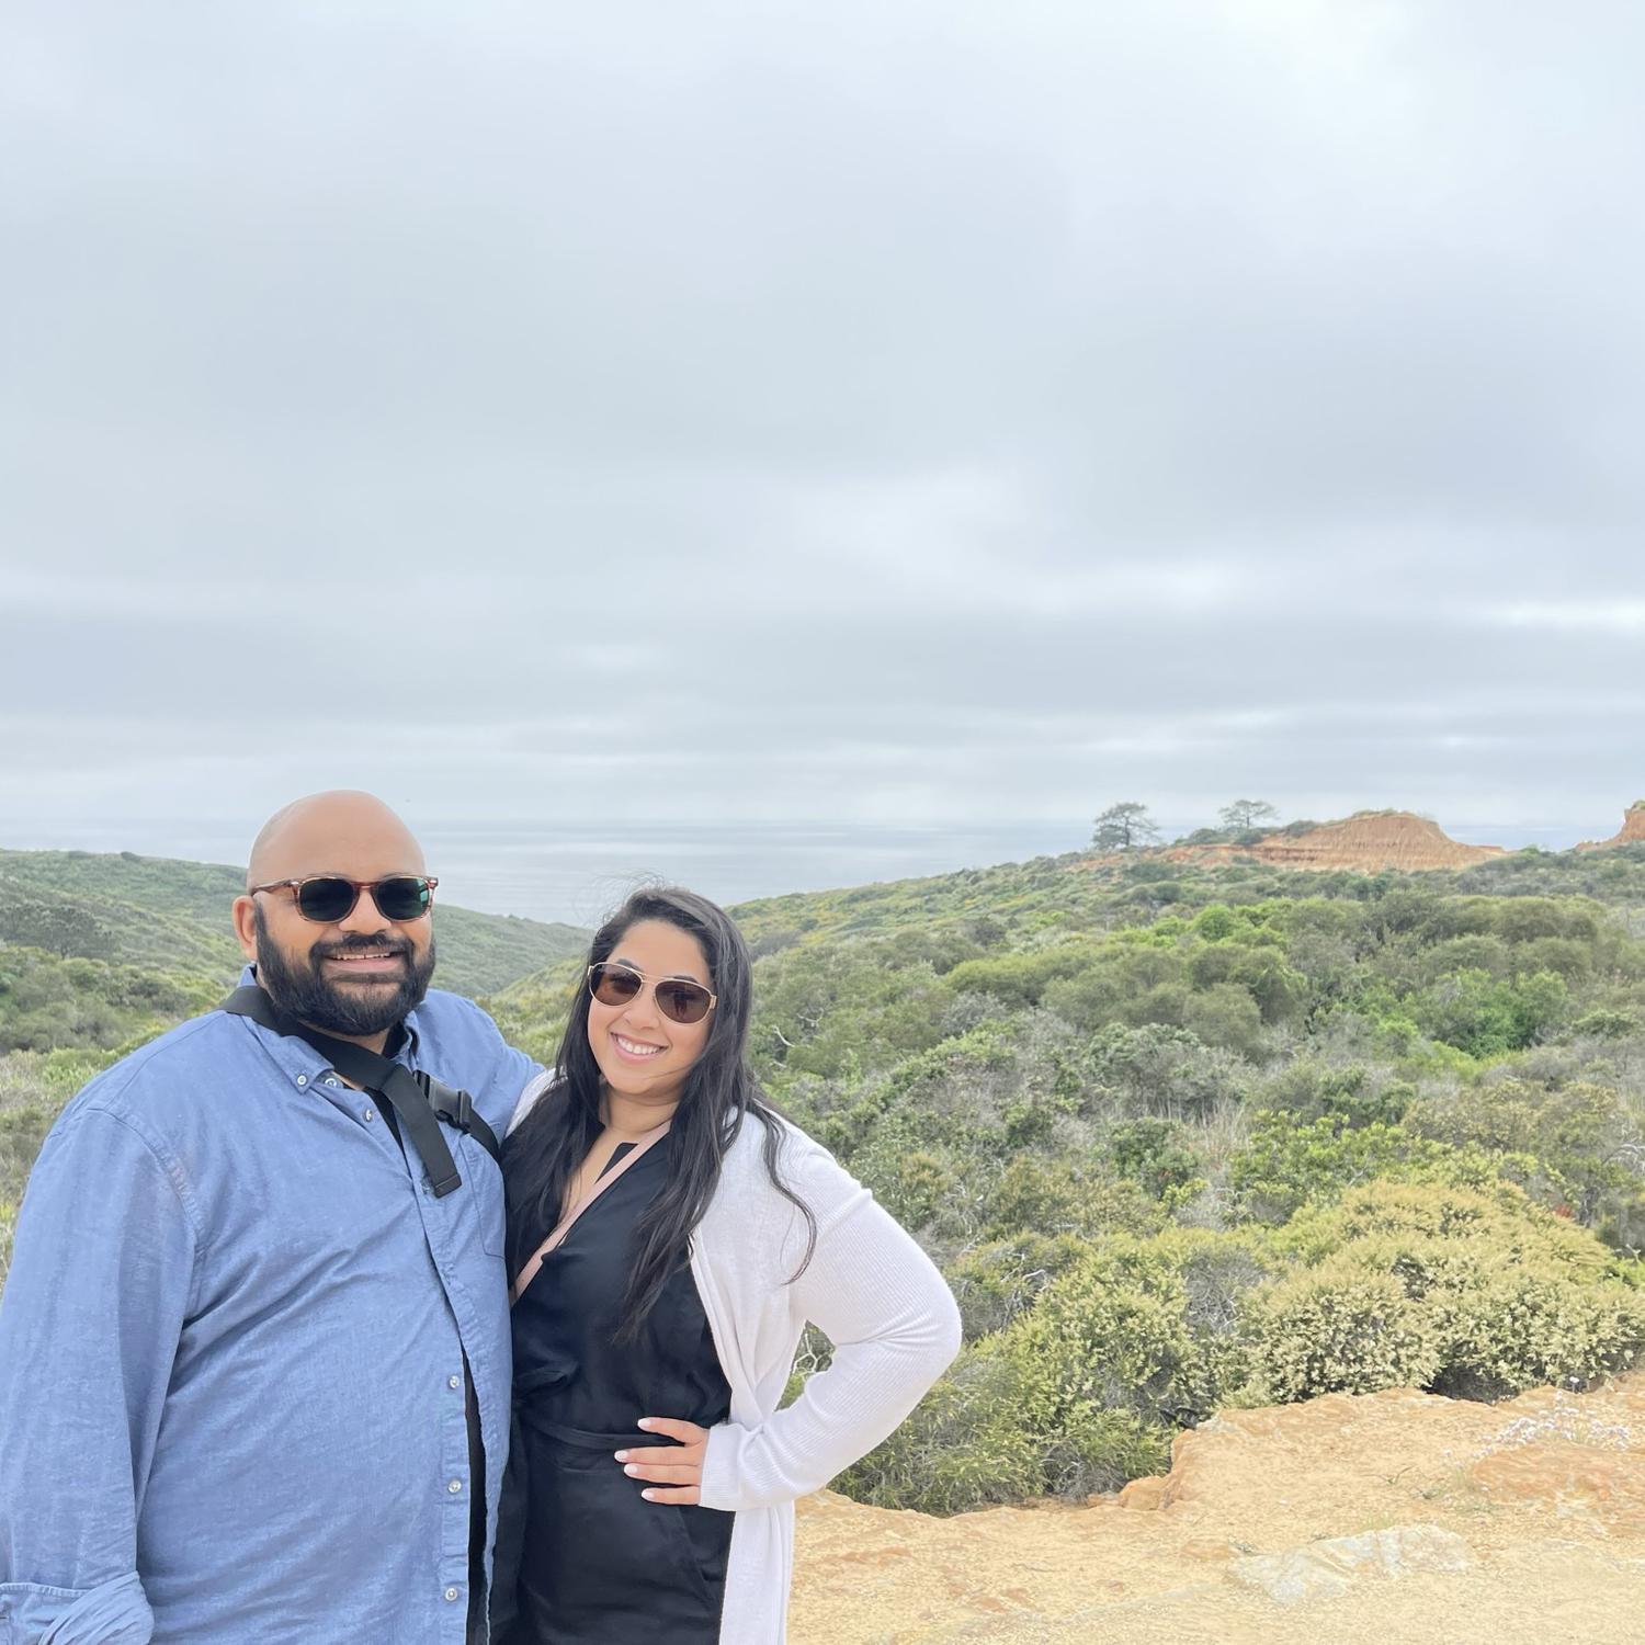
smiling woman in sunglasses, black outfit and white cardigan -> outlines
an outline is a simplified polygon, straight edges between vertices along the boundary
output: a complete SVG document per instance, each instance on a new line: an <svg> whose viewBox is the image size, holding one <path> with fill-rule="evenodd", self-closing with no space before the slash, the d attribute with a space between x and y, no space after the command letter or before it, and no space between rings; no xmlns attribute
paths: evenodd
<svg viewBox="0 0 1645 1645"><path fill-rule="evenodd" d="M957 1351L926 1255L765 1102L748 1010L727 915L638 892L595 933L554 1081L505 1147L507 1645L775 1645L793 1500ZM808 1321L839 1352L778 1411Z"/></svg>

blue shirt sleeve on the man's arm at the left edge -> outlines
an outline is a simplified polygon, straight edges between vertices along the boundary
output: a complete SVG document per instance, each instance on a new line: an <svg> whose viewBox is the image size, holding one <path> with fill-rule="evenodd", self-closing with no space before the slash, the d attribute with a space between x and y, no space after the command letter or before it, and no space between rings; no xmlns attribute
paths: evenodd
<svg viewBox="0 0 1645 1645"><path fill-rule="evenodd" d="M105 1109L71 1109L35 1163L0 1298L0 1638L153 1635L137 1517L194 1288L184 1194Z"/></svg>

